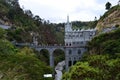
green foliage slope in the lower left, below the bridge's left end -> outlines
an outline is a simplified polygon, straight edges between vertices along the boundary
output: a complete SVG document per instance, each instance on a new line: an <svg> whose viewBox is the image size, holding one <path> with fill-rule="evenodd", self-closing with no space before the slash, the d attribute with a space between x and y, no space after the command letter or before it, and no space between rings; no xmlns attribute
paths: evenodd
<svg viewBox="0 0 120 80"><path fill-rule="evenodd" d="M53 80L44 74L52 74L52 69L32 49L14 47L0 28L0 80Z"/></svg>

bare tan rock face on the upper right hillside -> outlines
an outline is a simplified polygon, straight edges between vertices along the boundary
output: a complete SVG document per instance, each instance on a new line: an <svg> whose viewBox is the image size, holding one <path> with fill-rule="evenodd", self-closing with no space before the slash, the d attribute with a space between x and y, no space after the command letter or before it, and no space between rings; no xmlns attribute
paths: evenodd
<svg viewBox="0 0 120 80"><path fill-rule="evenodd" d="M120 6L114 6L107 11L98 21L96 29L101 32L104 28L111 28L113 26L120 26Z"/></svg>

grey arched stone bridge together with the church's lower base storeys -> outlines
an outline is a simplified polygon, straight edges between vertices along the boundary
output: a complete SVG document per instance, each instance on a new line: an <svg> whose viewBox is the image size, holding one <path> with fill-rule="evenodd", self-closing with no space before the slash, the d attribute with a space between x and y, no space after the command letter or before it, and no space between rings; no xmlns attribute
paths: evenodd
<svg viewBox="0 0 120 80"><path fill-rule="evenodd" d="M54 67L54 56L55 50L60 49L65 53L65 67L66 70L72 65L74 65L78 60L81 59L82 54L87 50L85 46L41 46L41 45L31 45L29 43L15 43L16 46L29 46L37 51L46 49L49 52L49 64Z"/></svg>

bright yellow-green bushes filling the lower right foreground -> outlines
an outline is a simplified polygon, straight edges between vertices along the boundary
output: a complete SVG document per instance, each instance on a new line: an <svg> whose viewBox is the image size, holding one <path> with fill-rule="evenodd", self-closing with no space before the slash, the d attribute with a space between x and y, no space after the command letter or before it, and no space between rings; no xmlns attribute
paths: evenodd
<svg viewBox="0 0 120 80"><path fill-rule="evenodd" d="M62 80L120 80L120 55L89 55L63 75Z"/></svg>

